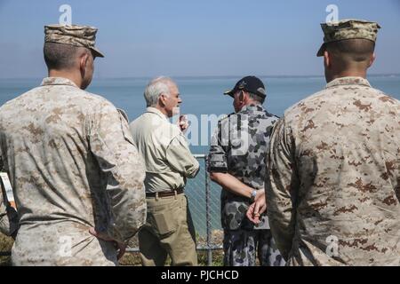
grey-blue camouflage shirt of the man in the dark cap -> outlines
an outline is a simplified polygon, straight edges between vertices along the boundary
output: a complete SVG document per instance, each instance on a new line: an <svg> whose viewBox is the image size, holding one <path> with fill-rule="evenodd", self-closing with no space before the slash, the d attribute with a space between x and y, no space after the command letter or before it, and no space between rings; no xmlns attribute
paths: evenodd
<svg viewBox="0 0 400 284"><path fill-rule="evenodd" d="M273 124L278 120L261 105L244 106L218 123L207 159L209 172L228 172L254 189L264 188L265 154ZM246 217L250 199L221 191L221 224L224 229L254 229ZM268 220L259 225L268 228Z"/></svg>

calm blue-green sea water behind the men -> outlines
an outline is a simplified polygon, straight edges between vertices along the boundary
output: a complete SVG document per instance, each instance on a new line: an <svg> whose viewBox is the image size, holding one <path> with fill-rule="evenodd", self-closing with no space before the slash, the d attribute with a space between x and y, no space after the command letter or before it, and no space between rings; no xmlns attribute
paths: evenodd
<svg viewBox="0 0 400 284"><path fill-rule="evenodd" d="M266 84L268 93L264 106L269 113L278 116L284 114L287 107L320 91L325 86L322 76L260 78ZM233 112L232 99L224 96L223 92L231 89L240 77L177 77L173 79L178 83L183 99L180 107L181 114L189 114L189 121L191 118L198 122L197 137L193 137L191 133L188 136L192 144L190 148L194 154L207 154L212 125L201 123L202 116L207 118L211 114L218 116ZM371 75L368 80L374 88L400 99L400 75ZM41 81L42 79L0 79L0 105L38 86ZM99 94L117 107L123 108L132 121L146 108L143 91L148 81L148 78L94 78L87 91ZM196 123L192 123L192 125L196 125ZM196 231L200 235L204 235L204 163L201 162L201 165L201 173L194 180L188 182L187 190ZM211 185L212 229L218 229L220 228L220 187L213 183Z"/></svg>

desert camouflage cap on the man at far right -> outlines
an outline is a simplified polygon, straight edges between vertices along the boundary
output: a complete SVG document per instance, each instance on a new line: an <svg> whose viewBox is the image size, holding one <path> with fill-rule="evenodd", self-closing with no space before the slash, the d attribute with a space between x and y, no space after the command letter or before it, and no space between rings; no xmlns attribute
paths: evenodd
<svg viewBox="0 0 400 284"><path fill-rule="evenodd" d="M369 39L375 42L380 25L373 21L350 19L322 23L321 28L324 31L324 43L316 56L324 56L326 43L356 38Z"/></svg>

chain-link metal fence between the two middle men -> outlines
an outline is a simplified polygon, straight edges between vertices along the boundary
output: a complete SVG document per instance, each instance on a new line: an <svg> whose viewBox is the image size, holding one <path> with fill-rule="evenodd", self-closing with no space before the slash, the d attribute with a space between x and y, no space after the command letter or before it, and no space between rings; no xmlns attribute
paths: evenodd
<svg viewBox="0 0 400 284"><path fill-rule="evenodd" d="M196 178L188 180L185 193L188 196L189 209L192 212L192 218L197 232L196 249L207 252L207 265L212 266L212 251L222 249L220 188L210 183L210 175L205 169L207 156L205 154L195 154L194 156L200 162L200 170ZM195 214L193 214L193 212ZM213 232L220 232L220 238L215 238ZM204 234L205 241L203 241ZM218 240L216 241L215 239ZM137 253L139 252L139 248L127 248L126 252ZM0 252L0 256L10 255L10 251Z"/></svg>

